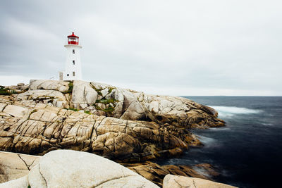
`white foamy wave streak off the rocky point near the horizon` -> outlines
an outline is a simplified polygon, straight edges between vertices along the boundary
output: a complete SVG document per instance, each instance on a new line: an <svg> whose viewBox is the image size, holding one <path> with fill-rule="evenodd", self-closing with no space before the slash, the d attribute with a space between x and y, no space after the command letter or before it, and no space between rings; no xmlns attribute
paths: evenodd
<svg viewBox="0 0 282 188"><path fill-rule="evenodd" d="M219 112L219 117L230 117L236 114L262 113L262 110L235 107L235 106L211 106Z"/></svg>

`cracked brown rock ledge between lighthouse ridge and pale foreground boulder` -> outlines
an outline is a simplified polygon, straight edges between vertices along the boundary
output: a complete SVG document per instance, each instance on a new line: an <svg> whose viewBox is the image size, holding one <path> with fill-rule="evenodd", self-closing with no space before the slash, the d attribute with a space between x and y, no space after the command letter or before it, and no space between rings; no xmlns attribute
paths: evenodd
<svg viewBox="0 0 282 188"><path fill-rule="evenodd" d="M185 142L188 135L170 130L171 125L90 115L44 104L33 108L0 106L2 151L44 154L73 149L129 162L176 156L189 144Z"/></svg>

